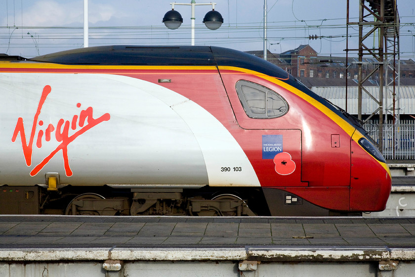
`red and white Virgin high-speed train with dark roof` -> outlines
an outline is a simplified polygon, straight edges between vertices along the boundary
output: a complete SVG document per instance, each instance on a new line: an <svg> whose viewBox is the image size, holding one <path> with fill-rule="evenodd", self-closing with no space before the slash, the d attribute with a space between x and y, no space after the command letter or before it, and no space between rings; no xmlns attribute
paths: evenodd
<svg viewBox="0 0 415 277"><path fill-rule="evenodd" d="M0 88L1 214L348 215L391 190L359 122L244 52L0 55Z"/></svg>

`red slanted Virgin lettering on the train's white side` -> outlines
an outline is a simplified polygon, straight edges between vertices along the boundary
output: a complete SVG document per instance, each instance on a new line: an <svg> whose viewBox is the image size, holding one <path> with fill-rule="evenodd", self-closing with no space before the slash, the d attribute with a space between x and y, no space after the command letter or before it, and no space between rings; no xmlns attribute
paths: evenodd
<svg viewBox="0 0 415 277"><path fill-rule="evenodd" d="M49 155L47 155L35 168L30 172L31 176L38 174L42 168L55 156L60 150L62 150L63 156L63 165L65 168L66 176L72 176L72 170L69 166L68 159L68 145L76 138L81 136L83 133L98 125L101 122L110 120L110 114L105 113L98 118L93 118L92 116L92 107L88 107L84 110L81 110L79 116L74 115L72 120L64 120L63 118L59 119L56 125L49 124L46 128L43 127L44 123L42 120L39 120L39 115L42 112L42 106L46 101L47 95L51 92L50 86L45 86L42 91L41 99L39 100L38 109L36 110L35 116L33 118L32 130L30 131L29 142L26 140L25 127L23 125L23 118L19 117L17 119L16 127L14 128L13 137L11 138L12 142L15 142L17 135L20 134L20 139L22 142L23 154L26 160L26 165L32 165L32 153L33 153L33 143L36 137L36 146L42 148L42 141L44 136L44 141L48 142L52 139L52 134L54 132L54 139L60 144L54 149ZM81 103L77 103L77 107L81 107ZM86 124L85 124L86 121ZM43 128L42 128L43 127ZM71 133L69 134L69 129Z"/></svg>

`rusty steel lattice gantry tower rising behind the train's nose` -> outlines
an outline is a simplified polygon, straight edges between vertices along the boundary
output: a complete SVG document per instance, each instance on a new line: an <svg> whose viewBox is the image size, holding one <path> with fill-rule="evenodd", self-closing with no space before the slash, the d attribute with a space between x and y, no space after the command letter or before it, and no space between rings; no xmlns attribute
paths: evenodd
<svg viewBox="0 0 415 277"><path fill-rule="evenodd" d="M365 92L378 104L378 108L373 111L366 121L371 119L375 114L379 114L378 146L382 150L384 148L383 117L386 120L387 114L389 113L393 115L394 123L399 123L399 96L397 95L399 95L400 86L400 67L397 0L359 0L358 22L351 22L349 20L349 1L347 0L346 60L349 51L358 52L357 62L347 62L347 67L357 65L358 70L358 118L362 120L362 93ZM349 26L358 26L359 47L357 49L348 48ZM376 31L378 35L376 35ZM373 47L369 46L369 38L373 38ZM368 56L374 57L376 64L373 70L364 76L362 74L362 66L368 63L365 59ZM347 68L346 76L348 76ZM379 91L377 95L373 95L363 86L365 81L372 78L376 81L378 80ZM392 103L388 103L388 96L392 98ZM396 111L398 111L397 114ZM394 143L395 139L392 138L391 140ZM392 145L392 148L395 149L394 145Z"/></svg>

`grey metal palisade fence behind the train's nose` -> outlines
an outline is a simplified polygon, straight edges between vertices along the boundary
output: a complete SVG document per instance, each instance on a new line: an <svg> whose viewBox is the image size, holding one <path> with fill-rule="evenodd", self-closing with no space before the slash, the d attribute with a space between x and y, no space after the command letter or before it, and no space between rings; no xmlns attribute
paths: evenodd
<svg viewBox="0 0 415 277"><path fill-rule="evenodd" d="M379 145L379 122L368 121L363 128ZM393 124L392 120L383 123L383 147L379 149L387 160L415 159L415 121L401 120Z"/></svg>

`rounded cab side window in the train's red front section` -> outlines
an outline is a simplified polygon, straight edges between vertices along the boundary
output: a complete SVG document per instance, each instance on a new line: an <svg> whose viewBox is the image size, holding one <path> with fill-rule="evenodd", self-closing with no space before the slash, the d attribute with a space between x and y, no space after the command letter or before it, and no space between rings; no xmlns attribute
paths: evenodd
<svg viewBox="0 0 415 277"><path fill-rule="evenodd" d="M277 92L240 80L236 83L239 100L250 118L276 118L288 112L288 103Z"/></svg>

